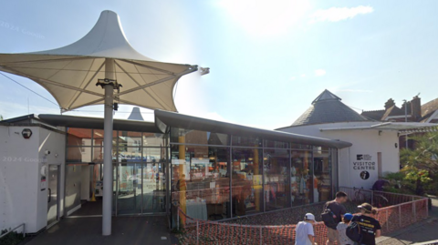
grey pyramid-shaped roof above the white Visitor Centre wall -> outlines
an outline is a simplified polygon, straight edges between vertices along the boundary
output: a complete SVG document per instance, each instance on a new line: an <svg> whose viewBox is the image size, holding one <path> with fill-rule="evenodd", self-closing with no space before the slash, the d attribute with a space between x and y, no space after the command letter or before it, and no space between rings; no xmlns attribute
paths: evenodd
<svg viewBox="0 0 438 245"><path fill-rule="evenodd" d="M315 100L312 106L306 110L292 126L303 126L311 124L368 121L366 117L342 103L340 97L335 96L327 89L324 90Z"/></svg>

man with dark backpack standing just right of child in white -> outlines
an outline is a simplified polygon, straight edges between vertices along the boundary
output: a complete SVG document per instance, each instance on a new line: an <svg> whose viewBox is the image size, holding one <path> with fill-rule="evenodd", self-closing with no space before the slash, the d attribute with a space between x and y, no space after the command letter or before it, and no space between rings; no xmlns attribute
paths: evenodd
<svg viewBox="0 0 438 245"><path fill-rule="evenodd" d="M328 201L324 205L324 211L321 214L321 218L327 227L327 245L334 245L335 241L339 244L339 234L336 230L337 225L342 220L342 217L347 212L342 205L348 200L347 193L338 191L336 193L336 199Z"/></svg>

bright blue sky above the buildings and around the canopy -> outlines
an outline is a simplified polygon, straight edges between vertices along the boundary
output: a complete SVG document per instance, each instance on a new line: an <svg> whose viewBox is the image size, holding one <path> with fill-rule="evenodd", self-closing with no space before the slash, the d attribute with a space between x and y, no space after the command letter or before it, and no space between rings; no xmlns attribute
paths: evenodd
<svg viewBox="0 0 438 245"><path fill-rule="evenodd" d="M151 58L211 67L183 77L181 113L258 128L292 124L328 88L350 107L438 97L437 1L6 1L0 53L66 46L112 10L131 46ZM55 101L43 87L10 76ZM27 103L29 101L29 103ZM27 106L29 105L29 107ZM115 117L126 118L121 106ZM0 76L0 115L59 113ZM69 115L102 117L103 106ZM151 112L142 109L151 120Z"/></svg>

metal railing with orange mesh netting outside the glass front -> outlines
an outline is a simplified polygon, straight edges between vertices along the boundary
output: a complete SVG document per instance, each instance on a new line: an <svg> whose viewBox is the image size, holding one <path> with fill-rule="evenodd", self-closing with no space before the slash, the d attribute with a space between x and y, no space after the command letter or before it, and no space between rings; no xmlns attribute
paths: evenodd
<svg viewBox="0 0 438 245"><path fill-rule="evenodd" d="M381 223L381 232L386 234L394 230L400 230L416 221L428 217L428 199L394 194L382 191L371 191L361 189L361 194L356 194L358 189L340 188L345 191L353 200L354 205L349 205L349 211L358 213L357 203L381 201L387 199L387 207L378 209L374 219ZM360 196L360 199L353 197ZM306 209L306 207L303 207ZM322 210L321 210L322 211ZM285 213L282 211L282 213ZM319 215L317 213L316 217ZM263 213L261 213L263 215ZM181 223L181 225L180 225ZM188 217L182 209L177 212L177 229L183 227L181 235L182 244L294 244L295 243L295 221L291 225L266 226L266 225L241 225L224 223L210 220L193 219ZM323 222L317 222L314 226L316 242L323 244L327 238L327 227Z"/></svg>

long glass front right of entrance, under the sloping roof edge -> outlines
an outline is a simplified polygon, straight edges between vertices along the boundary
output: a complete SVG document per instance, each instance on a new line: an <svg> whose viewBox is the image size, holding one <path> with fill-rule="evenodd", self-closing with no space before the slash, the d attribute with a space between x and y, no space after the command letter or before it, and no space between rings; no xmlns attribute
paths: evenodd
<svg viewBox="0 0 438 245"><path fill-rule="evenodd" d="M173 214L227 219L332 198L333 149L183 128L170 141Z"/></svg>

